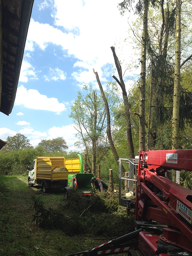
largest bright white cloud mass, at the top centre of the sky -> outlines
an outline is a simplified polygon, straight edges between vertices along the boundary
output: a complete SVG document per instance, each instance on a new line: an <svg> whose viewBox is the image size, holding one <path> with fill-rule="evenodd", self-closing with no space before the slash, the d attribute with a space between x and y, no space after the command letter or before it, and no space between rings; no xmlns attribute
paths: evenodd
<svg viewBox="0 0 192 256"><path fill-rule="evenodd" d="M122 17L117 8L118 3L118 0L98 0L97 4L92 0L55 0L52 17L58 28L31 19L27 41L42 50L50 43L61 45L63 50L68 51L68 55L78 59L74 65L78 70L72 73L72 77L80 84L95 81L92 68L98 72L100 80L105 82L104 76L110 71L106 72L101 67L106 63L114 63L111 46L115 45L116 54L122 63L123 60L131 60L132 49L124 40L128 37L127 15L130 14ZM43 4L45 7L49 5L47 1ZM30 45L30 49L35 49L34 45ZM50 77L45 76L45 79L50 80Z"/></svg>

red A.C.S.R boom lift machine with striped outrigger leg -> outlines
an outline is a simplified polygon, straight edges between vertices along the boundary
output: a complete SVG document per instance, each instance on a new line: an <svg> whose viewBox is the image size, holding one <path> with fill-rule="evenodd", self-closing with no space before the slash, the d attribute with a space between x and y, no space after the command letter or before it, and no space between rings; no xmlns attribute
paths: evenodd
<svg viewBox="0 0 192 256"><path fill-rule="evenodd" d="M192 256L192 191L166 177L172 169L191 172L192 149L139 151L136 197L127 200L135 231L70 256Z"/></svg>

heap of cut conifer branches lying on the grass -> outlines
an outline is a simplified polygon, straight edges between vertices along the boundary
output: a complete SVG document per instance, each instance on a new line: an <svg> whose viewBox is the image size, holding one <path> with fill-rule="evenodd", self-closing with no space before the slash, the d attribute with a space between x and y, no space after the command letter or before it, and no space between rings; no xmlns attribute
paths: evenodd
<svg viewBox="0 0 192 256"><path fill-rule="evenodd" d="M86 233L105 237L118 237L134 230L134 218L118 205L118 195L114 193L85 197L74 190L58 210L46 209L40 197L33 196L33 200L32 221L41 228L61 229L69 236Z"/></svg>

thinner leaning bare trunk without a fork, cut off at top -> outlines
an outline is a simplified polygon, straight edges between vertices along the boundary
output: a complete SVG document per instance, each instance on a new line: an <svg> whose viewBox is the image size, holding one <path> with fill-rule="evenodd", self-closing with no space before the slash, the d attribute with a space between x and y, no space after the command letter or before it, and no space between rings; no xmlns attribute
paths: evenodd
<svg viewBox="0 0 192 256"><path fill-rule="evenodd" d="M97 72L95 72L95 70L93 69L93 72L96 76L96 79L97 79L97 83L99 84L99 88L100 88L100 91L101 91L101 96L103 98L103 101L105 103L105 109L106 109L106 114L107 114L107 136L108 136L108 140L109 140L109 145L111 147L111 151L113 153L113 156L115 158L115 161L117 163L117 165L119 166L119 156L117 154L117 151L116 151L116 148L115 148L115 145L113 143L113 139L112 139L112 136L111 136L111 121L110 121L110 112L109 112L109 106L108 106L108 102L107 102L107 99L105 97L105 94L104 94L104 91L103 91L103 87L100 83L100 79L99 79L99 76L97 74Z"/></svg>

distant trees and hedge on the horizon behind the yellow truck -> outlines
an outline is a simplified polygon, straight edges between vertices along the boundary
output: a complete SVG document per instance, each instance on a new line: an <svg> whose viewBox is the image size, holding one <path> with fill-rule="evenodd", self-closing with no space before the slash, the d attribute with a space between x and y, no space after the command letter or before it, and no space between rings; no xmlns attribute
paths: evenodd
<svg viewBox="0 0 192 256"><path fill-rule="evenodd" d="M76 153L68 149L62 137L41 140L37 147L30 144L30 140L23 134L8 136L7 144L0 150L0 174L26 174L27 166L31 165L36 156L65 156L77 158Z"/></svg>

